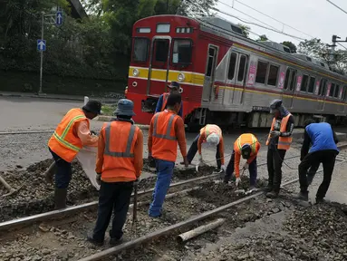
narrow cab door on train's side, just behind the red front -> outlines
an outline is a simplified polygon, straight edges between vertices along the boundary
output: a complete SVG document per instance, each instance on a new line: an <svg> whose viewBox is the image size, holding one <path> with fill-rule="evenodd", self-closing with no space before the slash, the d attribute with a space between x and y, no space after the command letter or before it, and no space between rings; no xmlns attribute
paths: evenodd
<svg viewBox="0 0 347 261"><path fill-rule="evenodd" d="M202 91L203 102L211 101L212 91L213 91L213 82L215 80L215 73L216 73L216 66L217 66L217 57L218 57L217 55L218 55L218 46L208 44L204 89Z"/></svg>

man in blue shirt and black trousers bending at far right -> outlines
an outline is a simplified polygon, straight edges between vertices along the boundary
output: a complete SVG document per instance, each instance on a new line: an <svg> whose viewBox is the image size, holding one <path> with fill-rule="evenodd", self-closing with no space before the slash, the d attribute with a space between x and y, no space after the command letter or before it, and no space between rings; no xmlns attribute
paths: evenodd
<svg viewBox="0 0 347 261"><path fill-rule="evenodd" d="M299 199L308 200L307 170L311 166L323 164L323 182L315 196L316 203L322 203L332 181L336 156L339 154L336 143L336 133L329 123L313 123L305 121L304 143L301 149L301 163L299 165L300 193ZM312 144L311 149L310 143Z"/></svg>

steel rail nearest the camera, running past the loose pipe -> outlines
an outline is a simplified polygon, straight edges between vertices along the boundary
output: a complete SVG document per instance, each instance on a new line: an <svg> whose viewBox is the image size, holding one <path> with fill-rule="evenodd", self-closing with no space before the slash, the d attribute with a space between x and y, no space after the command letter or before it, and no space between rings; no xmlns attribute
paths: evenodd
<svg viewBox="0 0 347 261"><path fill-rule="evenodd" d="M343 164L347 162L347 160L344 160L342 162L339 162L338 164L336 164L337 166ZM335 165L335 166L336 166ZM318 170L318 172L322 172L323 169L321 170ZM291 185L295 182L297 182L299 179L293 179L293 180L290 180L288 182L285 182L281 188L284 188L285 186L288 186L288 185ZM227 210L228 208L232 208L236 205L239 205L241 203L244 203L252 198L257 198L261 195L263 195L265 192L264 191L261 191L261 192L257 192L251 196L247 196L246 198L240 198L234 202L231 202L227 205L224 205L224 206L221 206L219 208L215 208L215 209L212 209L212 210L209 210L209 211L206 211L202 214L198 214L196 216L193 216L191 218L188 218L187 220L184 220L184 221L181 221L181 222L178 222L177 224L174 224L174 225L171 225L169 227L163 227L157 231L154 231L154 232L151 232L147 235L144 235L142 237L138 237L134 240L131 240L131 241L128 241L128 242L125 242L119 246L116 246L116 247L111 247L111 248L108 248L108 249L105 249L101 252L98 252L92 256L86 256L82 259L79 259L79 261L95 261L95 260L101 260L102 258L105 258L105 257L108 257L108 256L113 256L115 254L118 254L120 253L121 251L124 251L126 249L129 249L129 248L132 248L132 247L137 247L138 245L140 244L143 244L147 241L152 241L153 239L156 239L158 237L163 237L165 235L168 235L180 228L183 228L183 227L188 227L189 225L193 225L193 224L196 224L198 221L201 221L203 219L206 219L206 218L210 218L220 212L223 212L225 210Z"/></svg>

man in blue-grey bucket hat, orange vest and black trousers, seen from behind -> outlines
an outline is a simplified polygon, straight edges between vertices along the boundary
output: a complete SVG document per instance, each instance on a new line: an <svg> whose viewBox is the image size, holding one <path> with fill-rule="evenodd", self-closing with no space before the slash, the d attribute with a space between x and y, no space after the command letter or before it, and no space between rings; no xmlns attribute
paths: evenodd
<svg viewBox="0 0 347 261"><path fill-rule="evenodd" d="M133 125L134 103L127 99L118 102L115 121L105 123L101 129L96 161L99 192L98 218L87 238L102 245L113 210L110 245L122 240L133 185L140 178L143 166L143 134Z"/></svg>

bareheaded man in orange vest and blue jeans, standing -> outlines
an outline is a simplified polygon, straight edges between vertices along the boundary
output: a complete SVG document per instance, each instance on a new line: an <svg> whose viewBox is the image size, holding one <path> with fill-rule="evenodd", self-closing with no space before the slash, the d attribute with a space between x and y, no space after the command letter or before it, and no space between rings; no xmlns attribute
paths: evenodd
<svg viewBox="0 0 347 261"><path fill-rule="evenodd" d="M153 201L149 206L149 217L158 218L169 189L169 184L177 159L177 150L182 153L188 167L187 144L184 122L177 115L181 106L180 94L170 94L165 111L156 113L149 125L149 160L156 161L158 178L153 191Z"/></svg>

